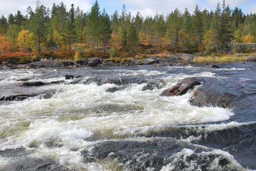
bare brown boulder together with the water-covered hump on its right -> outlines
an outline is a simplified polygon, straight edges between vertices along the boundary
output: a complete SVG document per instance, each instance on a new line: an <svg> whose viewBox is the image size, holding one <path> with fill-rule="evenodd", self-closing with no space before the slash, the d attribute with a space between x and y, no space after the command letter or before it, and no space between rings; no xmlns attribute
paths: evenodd
<svg viewBox="0 0 256 171"><path fill-rule="evenodd" d="M215 82L215 84L212 84ZM195 86L201 85L193 90L190 103L198 107L217 106L222 108L233 108L243 99L245 93L241 96L236 96L232 91L224 89L226 85L216 78L184 78L175 86L164 90L160 96L182 96Z"/></svg>

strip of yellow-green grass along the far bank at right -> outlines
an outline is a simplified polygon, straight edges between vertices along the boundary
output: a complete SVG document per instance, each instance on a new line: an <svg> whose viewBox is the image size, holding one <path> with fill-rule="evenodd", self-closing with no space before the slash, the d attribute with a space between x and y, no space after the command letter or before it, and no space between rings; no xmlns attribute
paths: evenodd
<svg viewBox="0 0 256 171"><path fill-rule="evenodd" d="M237 62L246 61L245 56L225 55L225 56L198 56L194 58L195 62Z"/></svg>

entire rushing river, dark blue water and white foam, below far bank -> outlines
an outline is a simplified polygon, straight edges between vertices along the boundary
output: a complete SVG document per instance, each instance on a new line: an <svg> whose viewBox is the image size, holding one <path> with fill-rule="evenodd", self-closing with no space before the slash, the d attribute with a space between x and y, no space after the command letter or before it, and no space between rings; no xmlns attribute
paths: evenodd
<svg viewBox="0 0 256 171"><path fill-rule="evenodd" d="M256 63L219 66L0 70L0 96L36 94L0 101L0 171L255 170ZM192 105L202 85L160 96L187 77L235 105ZM59 83L20 87L23 78Z"/></svg>

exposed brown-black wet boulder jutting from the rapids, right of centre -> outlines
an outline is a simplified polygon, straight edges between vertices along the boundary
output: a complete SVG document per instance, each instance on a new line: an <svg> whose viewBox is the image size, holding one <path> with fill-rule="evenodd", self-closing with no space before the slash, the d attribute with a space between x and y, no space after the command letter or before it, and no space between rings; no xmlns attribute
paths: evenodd
<svg viewBox="0 0 256 171"><path fill-rule="evenodd" d="M163 90L160 96L182 96L197 85L201 85L200 79L195 77L184 78L180 80L175 86Z"/></svg>

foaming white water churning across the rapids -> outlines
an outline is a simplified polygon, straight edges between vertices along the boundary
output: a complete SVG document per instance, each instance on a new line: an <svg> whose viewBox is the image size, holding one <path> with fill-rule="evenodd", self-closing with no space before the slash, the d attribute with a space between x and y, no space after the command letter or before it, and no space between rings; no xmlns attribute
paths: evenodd
<svg viewBox="0 0 256 171"><path fill-rule="evenodd" d="M123 73L123 75L158 74L164 73L147 70L126 70ZM1 84L17 84L15 79L26 75L31 74L12 75L1 81ZM73 169L82 170L85 167L87 170L102 170L97 163L82 162L81 150L90 148L96 143L87 141L87 138L91 136L99 137L98 139L102 141L111 136L133 134L137 129L146 132L156 125L225 121L233 116L234 113L230 109L192 106L189 104L192 92L183 96L159 96L163 90L175 85L182 78L213 77L213 75L212 72L169 75L163 78L168 82L165 87L160 90L146 91L141 91L146 84L131 84L115 93L106 92L108 88L116 87L114 84L101 86L94 83L89 85L60 84L36 87L40 91L56 90L56 93L51 99L35 97L0 106L0 150L25 147L33 151L35 157L50 157ZM40 81L63 79L49 78ZM49 140L63 146L47 147L44 142ZM79 151L72 151L70 148L78 148ZM180 153L185 152L193 153L186 149ZM0 162L3 166L8 165L10 159L0 158ZM171 170L171 165L170 163L162 170Z"/></svg>

